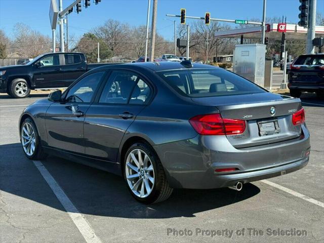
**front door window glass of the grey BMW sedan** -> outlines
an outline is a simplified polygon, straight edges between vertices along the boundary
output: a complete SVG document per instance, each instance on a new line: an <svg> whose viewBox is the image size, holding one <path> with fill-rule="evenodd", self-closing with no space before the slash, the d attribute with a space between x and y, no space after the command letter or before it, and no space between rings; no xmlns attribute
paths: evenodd
<svg viewBox="0 0 324 243"><path fill-rule="evenodd" d="M97 90L105 72L95 72L79 80L67 93L66 102L88 103Z"/></svg>

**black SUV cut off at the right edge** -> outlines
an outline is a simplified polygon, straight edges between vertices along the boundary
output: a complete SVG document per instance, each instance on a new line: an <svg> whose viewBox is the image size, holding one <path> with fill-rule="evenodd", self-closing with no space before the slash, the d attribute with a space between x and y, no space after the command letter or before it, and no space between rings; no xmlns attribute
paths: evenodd
<svg viewBox="0 0 324 243"><path fill-rule="evenodd" d="M302 92L324 96L324 54L301 55L291 64L288 74L290 95L300 97Z"/></svg>

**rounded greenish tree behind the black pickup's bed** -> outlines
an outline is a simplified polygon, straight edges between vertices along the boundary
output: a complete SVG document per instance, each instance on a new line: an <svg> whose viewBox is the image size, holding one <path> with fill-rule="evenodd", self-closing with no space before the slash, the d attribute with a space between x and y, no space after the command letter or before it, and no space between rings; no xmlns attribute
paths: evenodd
<svg viewBox="0 0 324 243"><path fill-rule="evenodd" d="M97 62L98 42L100 50L100 58L107 59L112 56L112 52L108 45L93 33L85 33L79 40L76 47L71 51L83 52L89 63Z"/></svg>

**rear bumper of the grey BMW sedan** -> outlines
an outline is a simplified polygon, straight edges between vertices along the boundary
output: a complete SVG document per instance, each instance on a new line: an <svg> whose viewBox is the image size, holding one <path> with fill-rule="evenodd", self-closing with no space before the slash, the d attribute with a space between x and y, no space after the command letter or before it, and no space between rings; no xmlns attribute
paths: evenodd
<svg viewBox="0 0 324 243"><path fill-rule="evenodd" d="M222 136L218 136L216 143L214 136L197 136L154 148L171 187L220 188L236 182L247 183L288 174L306 166L310 151L309 133L304 125L302 130L300 138L249 149L235 149ZM215 173L219 168L239 170Z"/></svg>

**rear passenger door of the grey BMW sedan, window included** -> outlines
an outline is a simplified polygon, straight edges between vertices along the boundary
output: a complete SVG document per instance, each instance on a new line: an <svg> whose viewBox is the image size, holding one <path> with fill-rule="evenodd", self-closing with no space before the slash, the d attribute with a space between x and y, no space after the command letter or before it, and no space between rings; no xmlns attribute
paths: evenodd
<svg viewBox="0 0 324 243"><path fill-rule="evenodd" d="M114 84L118 89L114 89ZM115 162L121 139L145 107L152 88L137 73L115 70L86 113L86 154Z"/></svg>

